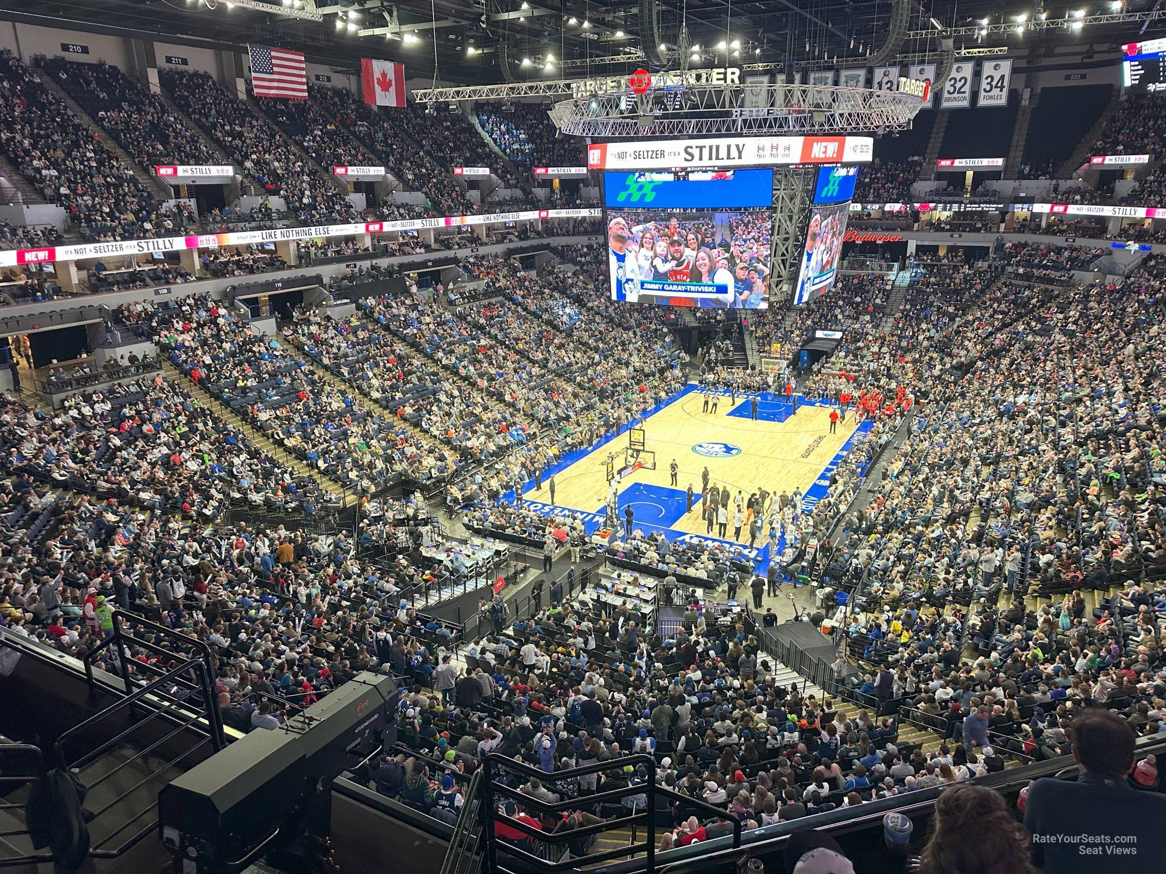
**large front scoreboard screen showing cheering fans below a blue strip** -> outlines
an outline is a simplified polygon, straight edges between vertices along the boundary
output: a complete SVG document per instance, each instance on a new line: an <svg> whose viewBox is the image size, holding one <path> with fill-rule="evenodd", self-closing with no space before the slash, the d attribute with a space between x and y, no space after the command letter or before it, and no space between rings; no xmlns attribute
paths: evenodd
<svg viewBox="0 0 1166 874"><path fill-rule="evenodd" d="M773 170L604 174L613 301L768 308Z"/></svg>

